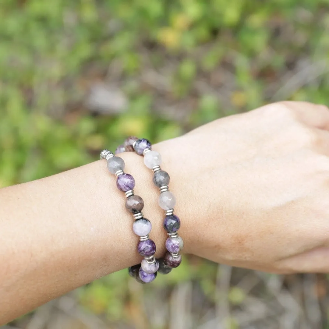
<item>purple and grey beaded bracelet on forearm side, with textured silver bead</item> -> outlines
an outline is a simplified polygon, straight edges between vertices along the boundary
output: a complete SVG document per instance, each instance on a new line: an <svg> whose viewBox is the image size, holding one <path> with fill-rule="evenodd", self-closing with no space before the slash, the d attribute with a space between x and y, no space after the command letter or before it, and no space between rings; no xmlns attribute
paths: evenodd
<svg viewBox="0 0 329 329"><path fill-rule="evenodd" d="M156 245L149 238L152 224L148 219L144 218L141 212L144 207L144 201L139 195L135 195L135 180L132 175L124 173L125 163L123 159L114 156L109 150L103 150L100 158L107 161L107 168L110 173L115 174L117 177L116 186L120 191L125 192L126 208L135 218L133 231L139 236L137 250L144 259L141 264L129 267L129 274L139 283L152 282L157 276L159 262L154 257Z"/></svg>

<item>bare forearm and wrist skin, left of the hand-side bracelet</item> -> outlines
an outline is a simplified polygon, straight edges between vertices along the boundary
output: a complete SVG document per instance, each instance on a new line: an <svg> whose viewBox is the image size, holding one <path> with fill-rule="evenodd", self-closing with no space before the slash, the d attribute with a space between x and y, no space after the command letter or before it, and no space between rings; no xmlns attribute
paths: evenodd
<svg viewBox="0 0 329 329"><path fill-rule="evenodd" d="M125 171L136 180L135 193L145 202L143 214L152 222L156 256L162 256L166 234L152 174L142 157L121 156ZM174 191L179 182L172 181ZM138 237L124 203L124 193L117 190L104 160L1 189L0 323L139 263ZM184 223L180 232L184 238Z"/></svg>

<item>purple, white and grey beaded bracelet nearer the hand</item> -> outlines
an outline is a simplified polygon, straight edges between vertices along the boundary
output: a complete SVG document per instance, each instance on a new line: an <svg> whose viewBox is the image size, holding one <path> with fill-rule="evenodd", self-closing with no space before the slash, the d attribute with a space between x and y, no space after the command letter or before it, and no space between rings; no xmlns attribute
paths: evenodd
<svg viewBox="0 0 329 329"><path fill-rule="evenodd" d="M147 139L129 137L123 145L116 149L115 153L127 151L135 151L137 154L144 156L144 164L152 169L154 173L153 183L160 189L159 206L165 212L164 228L169 237L165 241L167 252L164 259L159 259L160 267L158 271L161 274L167 274L172 268L181 264L182 256L179 252L184 246L183 239L177 234L180 228L180 219L173 214L176 198L168 188L170 177L166 171L161 170L161 155L159 152L151 150L151 143Z"/></svg>

